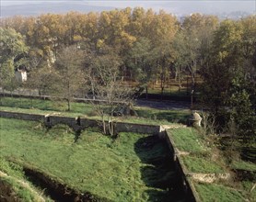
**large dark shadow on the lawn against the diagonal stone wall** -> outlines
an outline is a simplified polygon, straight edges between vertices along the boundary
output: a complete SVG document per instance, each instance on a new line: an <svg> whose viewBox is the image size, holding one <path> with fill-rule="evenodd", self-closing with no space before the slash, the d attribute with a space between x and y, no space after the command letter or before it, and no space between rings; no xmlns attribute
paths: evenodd
<svg viewBox="0 0 256 202"><path fill-rule="evenodd" d="M140 170L145 185L152 188L145 191L149 201L180 201L183 191L167 143L157 136L147 136L134 144L134 150L146 164Z"/></svg>

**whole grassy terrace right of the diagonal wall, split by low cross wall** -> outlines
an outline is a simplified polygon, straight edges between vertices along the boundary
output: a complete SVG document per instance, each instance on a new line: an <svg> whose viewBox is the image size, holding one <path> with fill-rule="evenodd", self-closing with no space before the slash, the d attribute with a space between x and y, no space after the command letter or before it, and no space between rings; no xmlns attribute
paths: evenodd
<svg viewBox="0 0 256 202"><path fill-rule="evenodd" d="M200 135L197 129L169 129L169 136L179 151L181 162L188 173L195 174L224 174L230 173L231 179L215 180L214 183L204 183L192 180L202 201L256 201L255 185L256 164L242 161L227 163L227 157L213 145L213 140ZM244 169L250 177L237 176L236 169Z"/></svg>

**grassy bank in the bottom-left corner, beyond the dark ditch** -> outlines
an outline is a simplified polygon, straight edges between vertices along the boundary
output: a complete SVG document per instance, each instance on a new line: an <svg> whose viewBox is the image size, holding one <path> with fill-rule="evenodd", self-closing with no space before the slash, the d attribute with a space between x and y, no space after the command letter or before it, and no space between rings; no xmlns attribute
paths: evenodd
<svg viewBox="0 0 256 202"><path fill-rule="evenodd" d="M21 166L9 163L1 157L0 162L0 193L4 201L52 201L29 183Z"/></svg>

